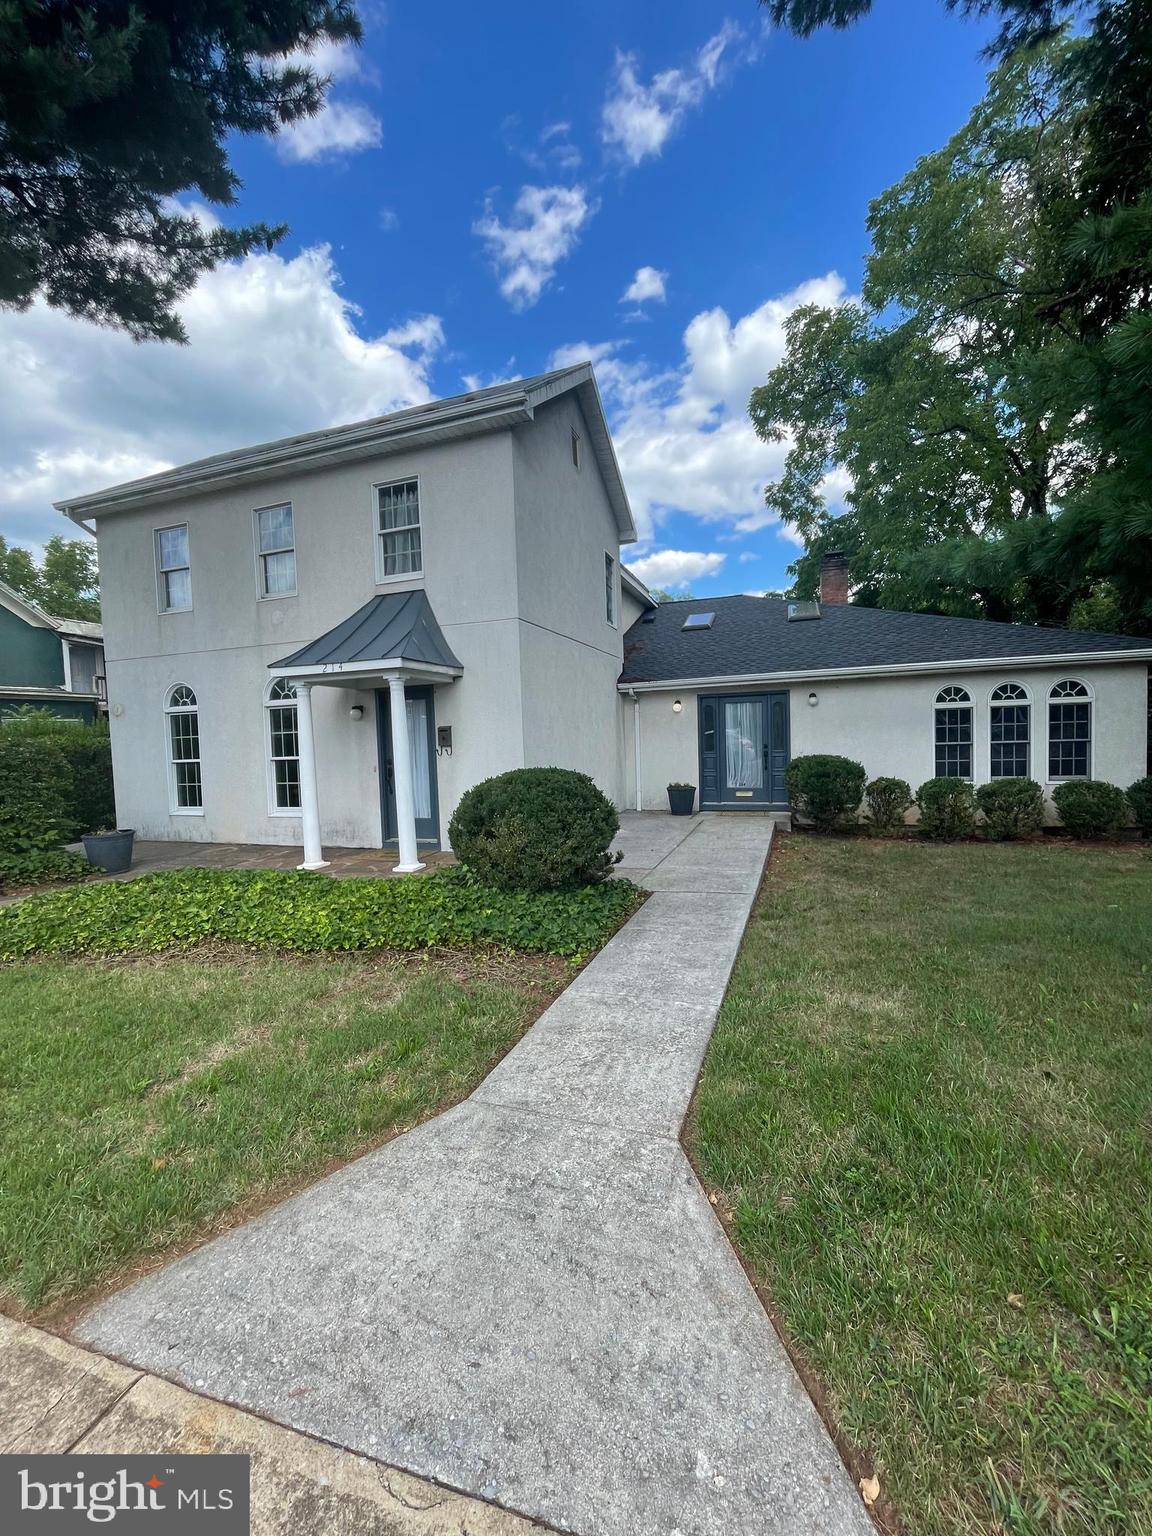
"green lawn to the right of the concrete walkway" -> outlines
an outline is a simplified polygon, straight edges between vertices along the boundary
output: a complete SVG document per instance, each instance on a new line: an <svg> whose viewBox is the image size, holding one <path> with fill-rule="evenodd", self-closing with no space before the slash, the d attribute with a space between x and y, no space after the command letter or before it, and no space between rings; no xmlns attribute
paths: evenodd
<svg viewBox="0 0 1152 1536"><path fill-rule="evenodd" d="M1152 859L785 839L694 1150L911 1536L1152 1531Z"/></svg>

